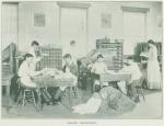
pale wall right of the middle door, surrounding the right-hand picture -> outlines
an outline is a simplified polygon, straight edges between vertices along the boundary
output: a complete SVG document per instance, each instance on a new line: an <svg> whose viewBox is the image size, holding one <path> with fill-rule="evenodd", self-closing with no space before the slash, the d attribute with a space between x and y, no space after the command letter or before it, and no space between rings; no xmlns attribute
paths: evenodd
<svg viewBox="0 0 164 126"><path fill-rule="evenodd" d="M154 41L162 42L162 27L157 27L157 18L162 16L161 2L92 2L89 9L89 47L95 48L95 42L97 38L104 38L107 36L110 39L124 39L124 15L121 5L149 8L148 26L147 26L147 39L152 38ZM101 14L112 14L112 27L101 27ZM94 46L93 46L94 45Z"/></svg>

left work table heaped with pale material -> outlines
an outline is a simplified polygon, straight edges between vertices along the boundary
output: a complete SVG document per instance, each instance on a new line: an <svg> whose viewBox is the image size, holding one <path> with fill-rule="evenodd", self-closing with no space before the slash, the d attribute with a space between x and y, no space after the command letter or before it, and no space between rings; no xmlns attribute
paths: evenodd
<svg viewBox="0 0 164 126"><path fill-rule="evenodd" d="M48 87L73 87L73 79L72 78L52 78L50 76L39 76L35 77L33 80L38 88L48 88ZM40 96L38 99L39 106L42 105ZM71 108L72 102L71 102L71 90L69 90L69 108Z"/></svg>

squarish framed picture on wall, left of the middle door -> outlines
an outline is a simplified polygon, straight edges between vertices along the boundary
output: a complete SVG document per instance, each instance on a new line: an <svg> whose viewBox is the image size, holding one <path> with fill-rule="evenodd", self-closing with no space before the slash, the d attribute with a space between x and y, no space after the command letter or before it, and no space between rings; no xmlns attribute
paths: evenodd
<svg viewBox="0 0 164 126"><path fill-rule="evenodd" d="M34 13L34 26L44 27L45 26L45 14Z"/></svg>

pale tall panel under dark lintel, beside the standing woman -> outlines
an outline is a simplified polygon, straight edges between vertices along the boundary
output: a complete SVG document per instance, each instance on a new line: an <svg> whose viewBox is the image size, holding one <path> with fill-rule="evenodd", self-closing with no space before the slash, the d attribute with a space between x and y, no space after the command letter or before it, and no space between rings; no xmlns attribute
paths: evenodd
<svg viewBox="0 0 164 126"><path fill-rule="evenodd" d="M133 55L137 43L145 41L145 13L124 12L124 54Z"/></svg>

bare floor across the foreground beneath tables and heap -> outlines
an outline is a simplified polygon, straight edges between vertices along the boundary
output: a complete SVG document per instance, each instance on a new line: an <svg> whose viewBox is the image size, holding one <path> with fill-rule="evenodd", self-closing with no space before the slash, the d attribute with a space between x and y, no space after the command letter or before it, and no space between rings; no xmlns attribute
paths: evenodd
<svg viewBox="0 0 164 126"><path fill-rule="evenodd" d="M5 108L5 98L2 96L2 118L161 118L162 116L162 91L144 91L145 102L142 101L138 103L133 111L122 114L107 113L104 115L91 114L91 115L80 115L73 114L63 104L58 105L44 105L42 112L36 112L34 106L31 104L25 105L21 108L16 105L10 107L8 111ZM80 90L80 99L74 99L73 104L84 103L91 96L90 91Z"/></svg>

